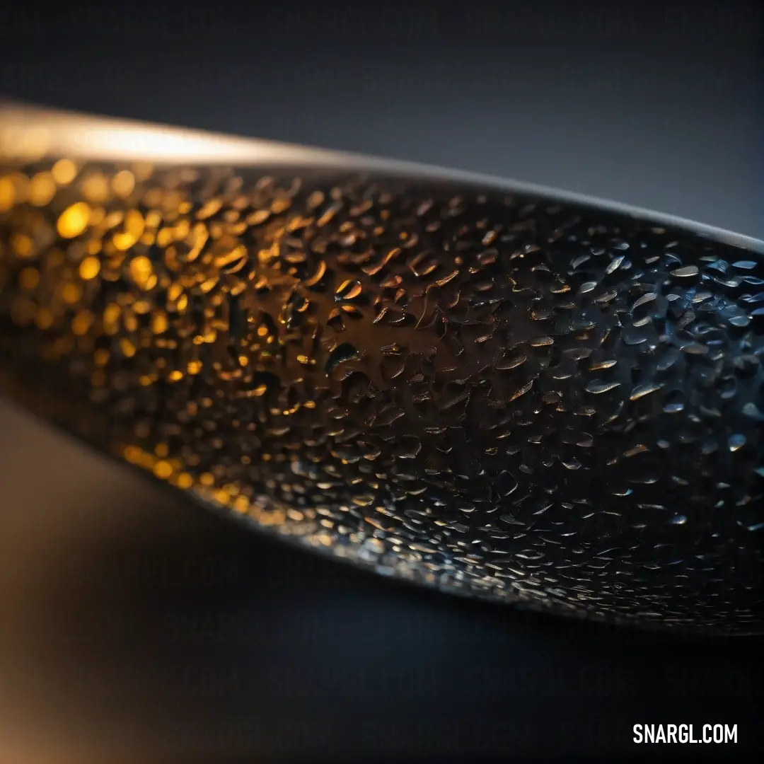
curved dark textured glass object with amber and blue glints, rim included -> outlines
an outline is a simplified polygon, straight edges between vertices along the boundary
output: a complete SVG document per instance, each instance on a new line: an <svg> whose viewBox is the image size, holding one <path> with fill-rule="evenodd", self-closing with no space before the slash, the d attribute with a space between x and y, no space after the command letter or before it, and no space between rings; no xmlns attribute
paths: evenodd
<svg viewBox="0 0 764 764"><path fill-rule="evenodd" d="M760 244L56 119L5 121L5 394L387 575L762 630Z"/></svg>

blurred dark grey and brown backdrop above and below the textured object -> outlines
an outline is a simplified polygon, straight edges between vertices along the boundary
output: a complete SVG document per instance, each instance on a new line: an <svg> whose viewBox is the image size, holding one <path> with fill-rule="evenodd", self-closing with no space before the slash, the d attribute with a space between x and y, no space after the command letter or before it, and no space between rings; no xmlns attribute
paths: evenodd
<svg viewBox="0 0 764 764"><path fill-rule="evenodd" d="M754 2L17 5L0 95L764 236ZM699 757L762 643L532 617L286 549L0 408L0 762ZM633 724L737 724L636 746Z"/></svg>

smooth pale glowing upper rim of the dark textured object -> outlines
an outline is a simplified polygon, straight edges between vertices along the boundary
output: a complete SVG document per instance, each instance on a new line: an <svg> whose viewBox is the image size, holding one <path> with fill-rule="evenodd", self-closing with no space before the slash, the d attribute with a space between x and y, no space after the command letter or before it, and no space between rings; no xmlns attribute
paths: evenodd
<svg viewBox="0 0 764 764"><path fill-rule="evenodd" d="M59 156L93 161L146 161L163 166L193 163L197 166L229 164L241 168L299 167L301 170L380 173L420 182L461 183L486 191L535 196L549 202L645 220L764 254L764 241L752 236L552 186L367 154L88 115L8 99L0 99L0 138L0 160L39 160Z"/></svg>

